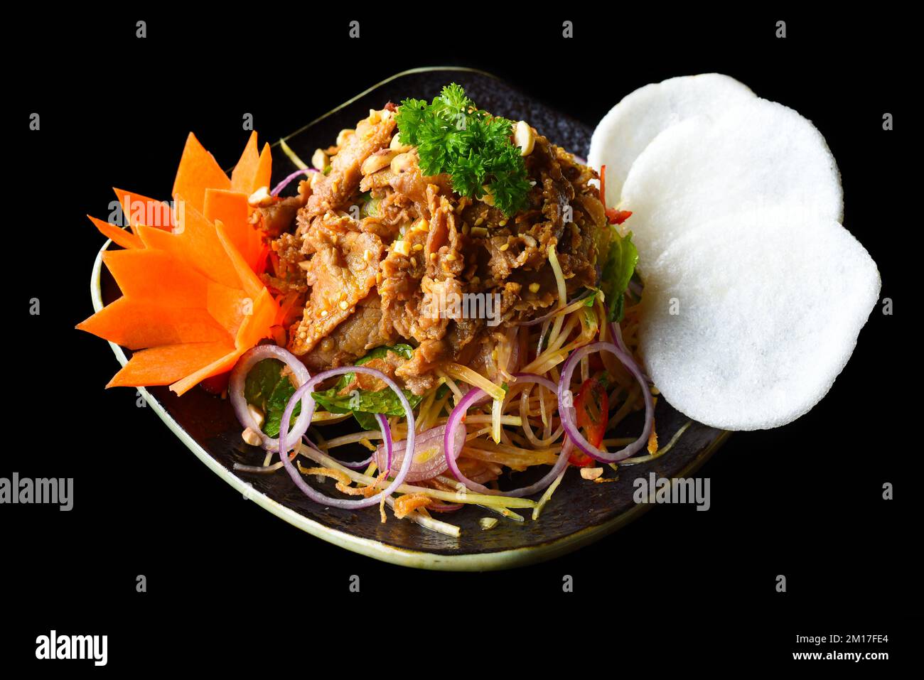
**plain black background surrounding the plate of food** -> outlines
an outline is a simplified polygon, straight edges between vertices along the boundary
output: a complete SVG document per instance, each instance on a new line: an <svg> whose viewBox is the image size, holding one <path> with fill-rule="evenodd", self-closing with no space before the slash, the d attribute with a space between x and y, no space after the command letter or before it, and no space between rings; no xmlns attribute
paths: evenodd
<svg viewBox="0 0 924 680"><path fill-rule="evenodd" d="M35 636L53 627L108 634L112 668L156 665L177 648L237 664L316 653L334 638L364 640L366 662L373 650L386 659L385 650L406 657L435 646L455 659L507 643L522 654L549 639L580 655L696 639L713 661L744 654L763 663L791 659L802 649L796 633L830 632L891 631L881 649L897 652L920 603L918 360L914 301L903 295L919 221L919 171L906 170L919 155L908 95L918 77L906 19L509 4L340 16L263 6L230 16L83 14L51 27L35 19L23 30L37 31L36 49L49 58L7 57L16 152L6 285L18 323L7 340L12 404L0 476L75 478L69 513L0 508L4 600L15 613L7 659L32 659ZM139 18L144 40L135 38ZM359 40L347 37L354 18ZM575 23L571 40L565 19ZM774 37L778 19L784 40ZM807 416L736 433L713 456L699 472L711 478L709 512L658 506L599 543L515 571L408 570L316 540L243 500L151 409L135 407L133 391L103 390L116 360L74 325L91 314L102 244L83 215L108 214L110 187L166 197L189 130L228 166L249 134L245 112L261 140L276 140L389 75L440 65L489 70L591 125L645 83L720 71L806 115L828 140L843 174L845 226L877 262L895 313L873 311L845 371ZM32 112L41 131L28 129ZM40 316L26 311L31 297L41 299ZM881 498L885 481L892 502ZM146 593L135 590L139 574ZM778 574L785 593L774 589ZM359 594L348 592L351 575ZM565 575L573 593L562 592ZM529 629L541 637L519 632ZM386 646L372 644L376 630ZM614 638L622 644L611 649Z"/></svg>

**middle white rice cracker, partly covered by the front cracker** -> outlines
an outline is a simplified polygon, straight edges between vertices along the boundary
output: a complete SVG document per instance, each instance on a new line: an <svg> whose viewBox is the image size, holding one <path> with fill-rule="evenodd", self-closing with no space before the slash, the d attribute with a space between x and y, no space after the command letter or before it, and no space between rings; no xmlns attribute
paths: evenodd
<svg viewBox="0 0 924 680"><path fill-rule="evenodd" d="M688 229L783 203L840 222L841 176L810 121L755 97L718 118L699 116L664 130L632 165L619 207L632 211L626 227L635 234L644 277Z"/></svg>

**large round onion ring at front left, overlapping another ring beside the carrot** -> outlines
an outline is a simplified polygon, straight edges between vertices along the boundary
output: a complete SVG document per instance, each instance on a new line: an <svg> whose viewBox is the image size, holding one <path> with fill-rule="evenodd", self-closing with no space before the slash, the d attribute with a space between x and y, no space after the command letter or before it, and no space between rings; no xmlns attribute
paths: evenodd
<svg viewBox="0 0 924 680"><path fill-rule="evenodd" d="M324 370L321 373L318 373L316 376L311 378L308 383L305 383L299 387L295 391L295 394L292 395L288 400L288 404L286 404L286 410L283 412L282 422L279 424L279 457L282 459L283 467L286 468L286 472L288 472L288 475L292 478L292 481L295 482L295 485L315 503L320 503L331 507L345 508L347 510L359 510L359 508L377 505L382 501L383 498L387 498L393 492L395 492L395 489L404 483L405 478L407 477L407 472L410 470L411 463L413 462L414 456L405 456L405 459L401 463L401 468L395 475L395 480L393 480L392 483L389 484L382 492L376 493L374 496L369 498L363 498L360 500L332 498L330 496L324 495L322 492L316 491L308 484L308 482L302 479L298 469L292 465L292 461L289 460L288 456L288 442L298 442L298 439L301 437L301 435L298 435L298 438L295 439L289 437L288 423L289 419L292 418L292 412L295 410L295 405L298 404L299 400L308 400L308 407L302 406L302 412L309 414L308 424L310 425L311 417L314 415L314 399L311 397L311 392L320 383L345 373L364 373L366 375L371 375L373 378L381 380L383 383L388 385L392 392L397 395L398 401L401 402L401 407L405 409L405 414L407 416L407 446L412 451L414 450L414 410L407 402L407 396L404 395L404 392L402 392L401 388L397 386L395 381L385 375L381 370L370 369L366 366L341 366L338 369ZM388 428L388 421L385 420L383 423L383 421L380 420L379 423L380 425L384 425L385 432L383 432L383 434L385 435L386 440L391 439L391 430Z"/></svg>

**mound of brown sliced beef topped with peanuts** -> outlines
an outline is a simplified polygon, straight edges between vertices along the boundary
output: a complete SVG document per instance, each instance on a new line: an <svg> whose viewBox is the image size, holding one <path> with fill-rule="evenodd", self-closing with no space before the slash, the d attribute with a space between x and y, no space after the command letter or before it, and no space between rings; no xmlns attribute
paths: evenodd
<svg viewBox="0 0 924 680"><path fill-rule="evenodd" d="M383 359L382 370L423 394L447 361L493 375L510 329L558 303L549 249L571 296L596 284L609 232L593 170L544 137L525 157L527 204L505 215L490 196L459 197L449 176L423 175L416 150L395 155L394 135L394 106L371 112L328 150L327 176L254 219L272 239L267 283L306 297L292 351L322 370L404 341L416 347L412 358Z"/></svg>

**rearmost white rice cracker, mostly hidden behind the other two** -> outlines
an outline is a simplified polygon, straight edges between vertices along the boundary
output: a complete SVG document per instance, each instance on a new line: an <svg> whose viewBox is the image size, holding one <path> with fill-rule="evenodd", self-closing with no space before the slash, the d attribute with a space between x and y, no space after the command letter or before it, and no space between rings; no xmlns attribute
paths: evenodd
<svg viewBox="0 0 924 680"><path fill-rule="evenodd" d="M627 94L604 115L590 138L588 163L606 165L606 204L615 206L629 168L663 130L694 115L721 115L754 93L721 73L681 76Z"/></svg>

